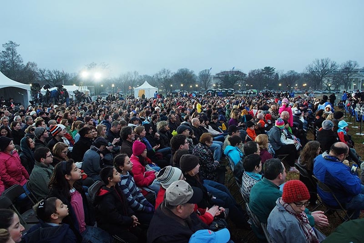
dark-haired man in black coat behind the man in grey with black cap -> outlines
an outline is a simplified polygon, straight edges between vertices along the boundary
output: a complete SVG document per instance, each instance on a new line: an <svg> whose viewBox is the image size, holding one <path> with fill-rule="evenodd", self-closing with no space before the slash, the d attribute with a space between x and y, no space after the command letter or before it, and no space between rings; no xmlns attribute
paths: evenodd
<svg viewBox="0 0 364 243"><path fill-rule="evenodd" d="M83 127L78 131L80 134L80 139L75 143L73 146L72 151L72 159L75 160L75 162L81 162L83 159L83 155L86 153L87 150L90 149L92 145L92 132L90 128Z"/></svg>

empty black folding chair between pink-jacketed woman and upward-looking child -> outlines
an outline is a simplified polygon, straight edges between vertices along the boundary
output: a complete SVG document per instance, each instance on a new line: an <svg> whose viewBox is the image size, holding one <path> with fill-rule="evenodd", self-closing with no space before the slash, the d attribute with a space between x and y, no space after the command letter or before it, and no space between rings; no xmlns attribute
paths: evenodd
<svg viewBox="0 0 364 243"><path fill-rule="evenodd" d="M22 186L20 186L20 185L17 185L17 184L13 185L13 186L9 187L7 190L5 190L3 192L3 196L10 200L10 202L12 203L13 210L18 215L20 215L19 218L21 217L25 224L37 224L37 223L39 223L39 219L37 218L37 216L36 216L36 214L35 214L35 212L34 212L34 210L32 208L28 209L24 213L20 214L19 210L16 207L16 202L19 201L19 200L17 200L17 198L23 193L25 193L25 195L27 195L27 198L32 203L32 206L34 206L35 202L25 192L24 188Z"/></svg>

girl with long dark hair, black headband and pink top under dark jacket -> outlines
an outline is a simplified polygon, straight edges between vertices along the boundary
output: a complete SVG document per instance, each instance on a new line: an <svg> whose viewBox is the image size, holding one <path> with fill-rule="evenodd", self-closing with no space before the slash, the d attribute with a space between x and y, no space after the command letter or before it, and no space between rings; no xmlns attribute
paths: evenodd
<svg viewBox="0 0 364 243"><path fill-rule="evenodd" d="M67 205L69 215L64 218L64 222L78 230L82 235L82 242L109 243L109 234L93 227L93 211L87 203L80 183L81 178L81 170L72 159L58 163L49 183L49 196L55 196Z"/></svg>

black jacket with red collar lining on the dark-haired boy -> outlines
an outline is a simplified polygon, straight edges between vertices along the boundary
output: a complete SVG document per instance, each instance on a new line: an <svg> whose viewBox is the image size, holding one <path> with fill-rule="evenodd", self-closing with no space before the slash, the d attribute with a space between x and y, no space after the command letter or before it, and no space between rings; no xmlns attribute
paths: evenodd
<svg viewBox="0 0 364 243"><path fill-rule="evenodd" d="M118 184L108 188L103 186L94 199L97 226L111 235L127 230L132 226L134 212L128 207L128 202Z"/></svg>

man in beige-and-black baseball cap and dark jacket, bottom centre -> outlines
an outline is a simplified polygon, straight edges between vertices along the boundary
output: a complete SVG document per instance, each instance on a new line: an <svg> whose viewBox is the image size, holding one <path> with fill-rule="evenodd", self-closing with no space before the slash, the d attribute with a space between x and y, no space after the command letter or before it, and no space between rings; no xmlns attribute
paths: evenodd
<svg viewBox="0 0 364 243"><path fill-rule="evenodd" d="M197 230L207 228L194 213L194 204L202 200L201 189L177 180L166 190L147 232L148 243L188 243Z"/></svg>

